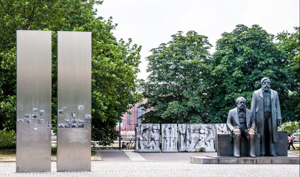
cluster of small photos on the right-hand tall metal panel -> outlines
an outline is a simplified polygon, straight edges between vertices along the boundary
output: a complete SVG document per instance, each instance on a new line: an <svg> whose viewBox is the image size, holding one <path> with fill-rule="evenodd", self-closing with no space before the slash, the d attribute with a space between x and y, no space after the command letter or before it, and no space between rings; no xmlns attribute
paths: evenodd
<svg viewBox="0 0 300 177"><path fill-rule="evenodd" d="M83 105L78 105L78 110L83 110ZM58 110L58 114L63 114L64 110ZM58 128L84 128L84 123L91 123L91 115L85 114L85 119L76 118L76 112L71 113L71 117L64 119L64 123L59 123Z"/></svg>

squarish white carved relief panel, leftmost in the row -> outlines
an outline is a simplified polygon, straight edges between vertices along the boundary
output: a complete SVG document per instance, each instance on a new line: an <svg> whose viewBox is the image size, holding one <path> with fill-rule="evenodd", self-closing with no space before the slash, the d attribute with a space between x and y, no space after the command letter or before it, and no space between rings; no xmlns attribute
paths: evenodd
<svg viewBox="0 0 300 177"><path fill-rule="evenodd" d="M160 152L159 124L135 124L135 152Z"/></svg>

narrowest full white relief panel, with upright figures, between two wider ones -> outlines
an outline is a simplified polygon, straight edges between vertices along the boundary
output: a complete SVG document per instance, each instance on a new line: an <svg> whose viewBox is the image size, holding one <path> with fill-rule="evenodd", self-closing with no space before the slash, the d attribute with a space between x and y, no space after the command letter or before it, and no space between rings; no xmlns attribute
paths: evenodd
<svg viewBox="0 0 300 177"><path fill-rule="evenodd" d="M161 152L178 152L177 124L161 124Z"/></svg>

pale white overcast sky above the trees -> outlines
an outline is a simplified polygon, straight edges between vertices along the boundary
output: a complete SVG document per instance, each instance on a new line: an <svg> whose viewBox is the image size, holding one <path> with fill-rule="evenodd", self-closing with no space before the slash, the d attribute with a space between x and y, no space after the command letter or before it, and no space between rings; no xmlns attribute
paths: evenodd
<svg viewBox="0 0 300 177"><path fill-rule="evenodd" d="M113 31L118 40L132 38L133 44L142 46L138 79L146 79L149 50L178 31L196 31L214 46L223 32L232 32L238 24L258 24L274 35L294 32L293 27L300 26L299 7L299 0L104 0L94 8L98 16L112 16L118 23Z"/></svg>

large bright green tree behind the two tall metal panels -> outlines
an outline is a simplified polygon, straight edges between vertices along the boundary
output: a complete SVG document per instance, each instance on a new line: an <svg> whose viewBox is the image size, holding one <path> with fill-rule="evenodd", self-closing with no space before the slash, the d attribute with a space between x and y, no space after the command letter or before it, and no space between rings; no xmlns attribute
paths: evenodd
<svg viewBox="0 0 300 177"><path fill-rule="evenodd" d="M57 33L92 33L92 140L113 143L118 113L140 101L135 89L141 46L116 41L112 18L96 18L98 0L0 0L0 129L16 127L16 30L52 31L52 128L56 129Z"/></svg>

